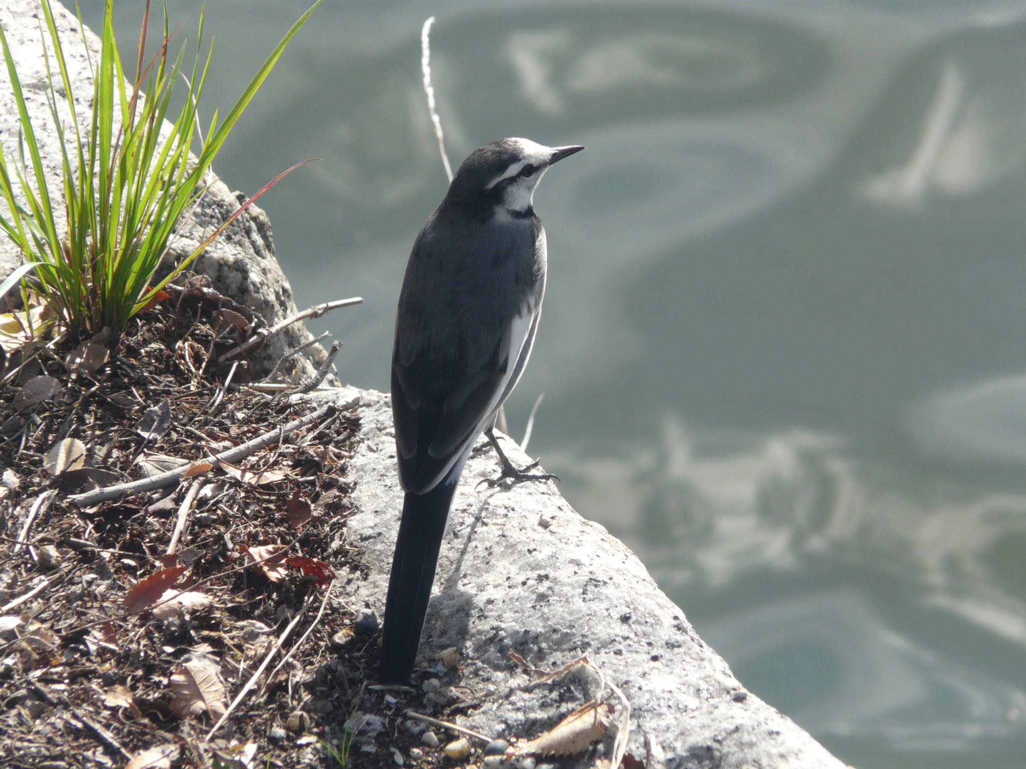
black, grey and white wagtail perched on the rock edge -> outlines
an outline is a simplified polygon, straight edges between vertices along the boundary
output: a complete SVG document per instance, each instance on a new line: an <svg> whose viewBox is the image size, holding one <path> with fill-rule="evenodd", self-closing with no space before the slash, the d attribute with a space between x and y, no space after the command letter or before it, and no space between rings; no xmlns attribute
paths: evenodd
<svg viewBox="0 0 1026 769"><path fill-rule="evenodd" d="M539 180L583 150L501 138L460 165L413 242L392 352L392 416L404 491L389 576L378 679L408 683L449 505L482 433L501 478L547 479L517 469L496 440L503 402L523 374L545 293Z"/></svg>

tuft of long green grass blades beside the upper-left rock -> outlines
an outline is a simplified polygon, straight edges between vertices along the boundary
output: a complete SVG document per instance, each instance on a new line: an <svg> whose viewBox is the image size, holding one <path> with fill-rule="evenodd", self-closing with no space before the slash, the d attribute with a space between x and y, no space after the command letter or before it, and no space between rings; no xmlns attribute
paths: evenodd
<svg viewBox="0 0 1026 769"><path fill-rule="evenodd" d="M165 278L154 281L168 243L185 216L208 185L207 171L218 152L274 69L289 41L322 0L317 0L281 39L253 76L235 106L219 124L213 114L205 132L200 130L198 108L206 83L212 45L203 54L203 19L200 13L195 59L191 73L183 69L185 46L169 56L173 34L164 5L160 49L147 59L146 39L150 2L144 11L134 74L126 81L114 38L114 2L107 0L98 62L90 60L93 77L92 113L80 123L61 38L50 0L42 0L45 32L43 47L56 63L47 67L47 99L62 149L62 189L47 189L40 148L29 118L13 56L0 28L0 44L10 75L22 129L16 158L0 148L0 195L8 217L0 228L21 249L23 269L34 265L34 287L73 337L109 329L116 339L129 319L170 280L188 268L210 242L246 206L297 168L279 174L239 208L209 238L176 265ZM79 24L81 26L81 13ZM42 27L42 25L41 25ZM84 34L84 33L83 33ZM55 84L60 79L60 86ZM187 91L183 107L170 111L175 84ZM182 87L180 85L180 87ZM62 122L57 103L64 91L70 121ZM170 130L161 135L165 119ZM205 138L204 138L205 136ZM192 154L191 154L192 153ZM306 162L306 161L304 161ZM15 197L15 184L25 205ZM56 215L63 206L62 217ZM63 224L66 220L66 226ZM24 276L23 280L28 280ZM8 281L4 285L9 287ZM23 292L26 288L23 284Z"/></svg>

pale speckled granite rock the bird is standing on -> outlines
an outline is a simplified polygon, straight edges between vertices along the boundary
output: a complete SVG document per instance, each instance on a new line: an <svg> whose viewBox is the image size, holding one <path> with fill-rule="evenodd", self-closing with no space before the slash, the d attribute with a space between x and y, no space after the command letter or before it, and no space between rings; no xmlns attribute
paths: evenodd
<svg viewBox="0 0 1026 769"><path fill-rule="evenodd" d="M388 397L364 391L360 418L350 466L358 512L349 529L367 578L355 598L381 614L402 503ZM511 441L504 447L514 463L528 461ZM481 704L462 725L497 738L537 736L597 694L597 683L577 675L528 686L507 653L546 671L587 654L630 700L629 752L649 769L843 766L748 693L637 557L578 515L552 482L476 488L498 470L487 450L464 472L419 655L431 666L442 649L460 650L460 674L439 670L438 693L451 683L474 693ZM570 765L586 764L560 762Z"/></svg>

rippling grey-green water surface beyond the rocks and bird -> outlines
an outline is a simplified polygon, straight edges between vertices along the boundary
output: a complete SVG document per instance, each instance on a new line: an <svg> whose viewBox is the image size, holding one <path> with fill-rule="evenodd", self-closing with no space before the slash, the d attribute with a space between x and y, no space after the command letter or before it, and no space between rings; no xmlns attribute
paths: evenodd
<svg viewBox="0 0 1026 769"><path fill-rule="evenodd" d="M208 4L224 114L298 10ZM1021 767L1026 0L325 4L216 166L251 192L324 158L262 203L301 303L366 298L313 324L362 386L444 190L430 14L453 160L588 147L538 193L508 409L546 393L566 496L846 762Z"/></svg>

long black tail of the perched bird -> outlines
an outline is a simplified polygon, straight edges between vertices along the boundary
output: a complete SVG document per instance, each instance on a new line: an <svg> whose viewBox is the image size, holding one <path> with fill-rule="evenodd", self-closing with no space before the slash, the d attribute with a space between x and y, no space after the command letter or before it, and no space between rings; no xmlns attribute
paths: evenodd
<svg viewBox="0 0 1026 769"><path fill-rule="evenodd" d="M382 663L378 671L378 680L383 684L408 683L413 670L431 584L435 580L438 549L456 492L456 481L446 481L449 479L443 479L424 494L407 493L402 503L385 602Z"/></svg>

